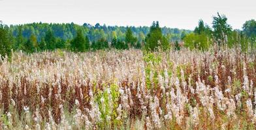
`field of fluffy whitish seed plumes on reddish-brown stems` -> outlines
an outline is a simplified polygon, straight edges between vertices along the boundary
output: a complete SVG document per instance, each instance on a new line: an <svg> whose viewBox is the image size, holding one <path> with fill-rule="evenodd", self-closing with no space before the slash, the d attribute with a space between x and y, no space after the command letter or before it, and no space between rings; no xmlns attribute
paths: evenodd
<svg viewBox="0 0 256 130"><path fill-rule="evenodd" d="M0 124L256 129L255 73L255 55L239 49L14 52L0 61Z"/></svg>

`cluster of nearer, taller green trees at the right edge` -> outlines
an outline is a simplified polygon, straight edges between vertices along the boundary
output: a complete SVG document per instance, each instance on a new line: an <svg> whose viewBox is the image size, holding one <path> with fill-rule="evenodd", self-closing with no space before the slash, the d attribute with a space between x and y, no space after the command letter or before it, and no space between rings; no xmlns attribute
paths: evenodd
<svg viewBox="0 0 256 130"><path fill-rule="evenodd" d="M227 17L217 13L213 17L212 28L199 20L199 25L195 30L182 38L185 47L189 49L207 50L213 44L227 45L227 47L240 47L242 51L256 47L256 21L251 19L246 21L242 31L232 29L227 23Z"/></svg>

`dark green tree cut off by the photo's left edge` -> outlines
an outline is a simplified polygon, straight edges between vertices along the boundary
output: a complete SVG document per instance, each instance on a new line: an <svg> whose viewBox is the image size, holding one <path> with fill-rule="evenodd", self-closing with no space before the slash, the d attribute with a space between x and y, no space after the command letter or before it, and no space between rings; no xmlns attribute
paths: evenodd
<svg viewBox="0 0 256 130"><path fill-rule="evenodd" d="M0 24L0 58L11 56L11 49L12 49L12 35L8 31L8 27Z"/></svg>

